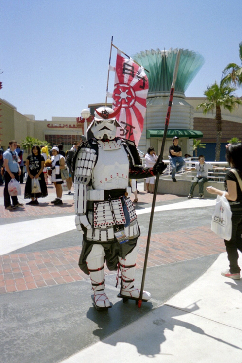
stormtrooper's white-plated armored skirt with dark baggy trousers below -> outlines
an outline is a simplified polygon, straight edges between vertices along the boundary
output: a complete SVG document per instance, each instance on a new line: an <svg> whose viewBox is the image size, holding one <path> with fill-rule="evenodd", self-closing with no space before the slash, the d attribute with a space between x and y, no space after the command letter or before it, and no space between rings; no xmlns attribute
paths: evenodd
<svg viewBox="0 0 242 363"><path fill-rule="evenodd" d="M130 198L118 198L104 202L89 203L89 207L91 205L92 209L88 209L88 219L92 228L86 229L83 227L84 234L79 267L83 272L89 274L86 258L94 244L102 244L105 251L104 260L106 261L107 268L110 271L117 270L118 257L125 258L136 246L140 236L133 203ZM110 213L111 209L113 209L113 213ZM129 225L125 226L126 224L124 223L126 223L127 216ZM124 231L127 237L126 242L120 243L115 237L115 233L120 230Z"/></svg>

